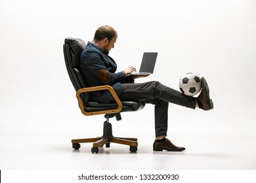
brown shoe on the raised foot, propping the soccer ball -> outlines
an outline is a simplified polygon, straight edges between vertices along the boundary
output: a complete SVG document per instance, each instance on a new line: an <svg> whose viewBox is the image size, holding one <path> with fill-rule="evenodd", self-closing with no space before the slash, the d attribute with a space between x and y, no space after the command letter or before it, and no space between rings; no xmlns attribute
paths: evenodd
<svg viewBox="0 0 256 183"><path fill-rule="evenodd" d="M198 107L203 110L213 109L213 101L210 99L209 87L205 78L201 78L202 91L198 95Z"/></svg>

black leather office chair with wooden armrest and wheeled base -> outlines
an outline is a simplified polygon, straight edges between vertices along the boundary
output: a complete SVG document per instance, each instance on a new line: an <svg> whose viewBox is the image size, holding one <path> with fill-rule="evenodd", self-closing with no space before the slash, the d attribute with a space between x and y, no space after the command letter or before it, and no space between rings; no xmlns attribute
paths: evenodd
<svg viewBox="0 0 256 183"><path fill-rule="evenodd" d="M85 46L86 43L81 39L74 39L72 37L65 39L63 49L66 68L68 70L70 80L75 88L76 97L81 112L85 116L104 114L106 121L103 125L102 137L89 139L73 139L72 147L75 150L78 150L80 148L79 143L94 142L93 148L91 148L91 152L98 153L98 147L104 146L104 144L106 144L106 147L110 147L110 142L114 142L118 144L129 145L131 152L137 152L137 139L114 137L112 135L112 124L110 124L109 119L116 116L117 120L121 120L121 112L140 110L144 108L144 105L142 103L137 103L135 101L120 101L114 89L108 85L87 87L85 79L79 72L78 68L80 55ZM114 97L116 103L106 104L91 101L91 92L97 90L109 90L110 93L112 93L112 96Z"/></svg>

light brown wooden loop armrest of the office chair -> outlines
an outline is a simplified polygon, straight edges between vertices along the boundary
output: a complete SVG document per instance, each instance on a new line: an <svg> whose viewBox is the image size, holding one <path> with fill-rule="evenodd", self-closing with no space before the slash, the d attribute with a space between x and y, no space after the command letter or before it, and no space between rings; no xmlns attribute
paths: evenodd
<svg viewBox="0 0 256 183"><path fill-rule="evenodd" d="M94 91L100 91L100 90L110 91L110 93L112 94L112 96L114 97L114 99L115 99L115 101L118 105L118 108L110 109L110 110L99 110L99 111L95 111L95 112L88 112L87 110L85 110L85 105L83 103L83 99L81 99L81 97L80 97L81 93L94 92ZM81 88L81 89L77 90L76 97L77 97L81 112L85 116L91 116L91 115L97 115L97 114L112 114L112 113L120 112L121 109L122 109L122 103L121 103L119 97L117 96L115 90L109 85L94 86L94 87L89 87L89 88Z"/></svg>

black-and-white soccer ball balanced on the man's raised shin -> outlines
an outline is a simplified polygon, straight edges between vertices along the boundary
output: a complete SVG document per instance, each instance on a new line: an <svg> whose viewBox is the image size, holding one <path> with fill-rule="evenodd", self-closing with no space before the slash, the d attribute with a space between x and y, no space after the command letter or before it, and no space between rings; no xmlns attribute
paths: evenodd
<svg viewBox="0 0 256 183"><path fill-rule="evenodd" d="M194 73L186 73L179 80L179 88L182 93L194 96L201 90L201 78Z"/></svg>

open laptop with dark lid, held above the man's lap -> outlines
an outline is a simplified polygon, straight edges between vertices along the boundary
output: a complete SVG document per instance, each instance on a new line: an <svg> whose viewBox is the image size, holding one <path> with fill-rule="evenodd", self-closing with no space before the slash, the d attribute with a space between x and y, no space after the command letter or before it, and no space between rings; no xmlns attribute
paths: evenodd
<svg viewBox="0 0 256 183"><path fill-rule="evenodd" d="M140 64L140 71L139 73L131 73L131 75L139 76L139 75L152 75L155 64L156 58L158 57L158 52L144 52L142 61Z"/></svg>

